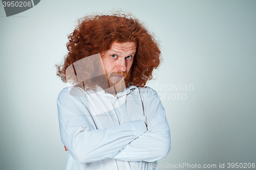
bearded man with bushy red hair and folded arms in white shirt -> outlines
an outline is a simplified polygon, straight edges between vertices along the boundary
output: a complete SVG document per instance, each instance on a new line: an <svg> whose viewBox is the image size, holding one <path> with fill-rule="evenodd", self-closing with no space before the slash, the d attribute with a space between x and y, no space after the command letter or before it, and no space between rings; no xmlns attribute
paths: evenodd
<svg viewBox="0 0 256 170"><path fill-rule="evenodd" d="M57 75L73 87L57 100L67 169L158 169L170 150L165 109L145 87L160 63L157 41L132 16L82 18Z"/></svg>

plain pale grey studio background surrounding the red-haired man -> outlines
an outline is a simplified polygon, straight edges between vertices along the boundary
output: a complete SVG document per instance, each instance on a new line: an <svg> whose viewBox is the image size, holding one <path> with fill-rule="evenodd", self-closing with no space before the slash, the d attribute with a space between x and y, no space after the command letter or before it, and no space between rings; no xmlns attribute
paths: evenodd
<svg viewBox="0 0 256 170"><path fill-rule="evenodd" d="M256 1L45 0L11 17L0 7L0 169L65 169L56 99L66 84L54 64L77 18L111 9L131 11L161 41L148 85L172 146L159 164L256 163Z"/></svg>

